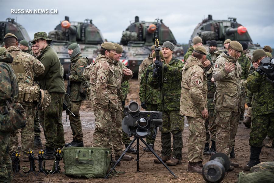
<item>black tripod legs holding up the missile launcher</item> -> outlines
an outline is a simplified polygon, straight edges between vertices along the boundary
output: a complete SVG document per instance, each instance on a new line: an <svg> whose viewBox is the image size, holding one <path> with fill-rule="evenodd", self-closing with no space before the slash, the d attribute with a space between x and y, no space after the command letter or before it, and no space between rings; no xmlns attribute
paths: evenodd
<svg viewBox="0 0 274 183"><path fill-rule="evenodd" d="M167 170L175 177L177 178L177 176L173 173L173 171L170 170L170 168L163 162L163 160L153 151L153 149L144 141L144 139L139 138L134 136L134 138L132 139L132 141L130 142L130 144L128 145L128 147L125 149L125 151L122 153L122 155L120 156L120 158L116 161L116 163L114 164L114 166L111 168L111 170L108 172L108 174L106 175L105 179L108 178L108 176L111 174L111 172L114 170L114 168L117 166L118 163L120 163L120 161L122 160L123 156L125 155L126 152L128 152L128 150L131 148L133 142L135 142L135 140L137 140L137 171L139 172L139 139L146 145L146 147L154 154L154 156L167 168Z"/></svg>

